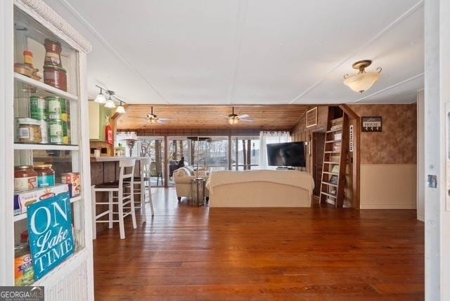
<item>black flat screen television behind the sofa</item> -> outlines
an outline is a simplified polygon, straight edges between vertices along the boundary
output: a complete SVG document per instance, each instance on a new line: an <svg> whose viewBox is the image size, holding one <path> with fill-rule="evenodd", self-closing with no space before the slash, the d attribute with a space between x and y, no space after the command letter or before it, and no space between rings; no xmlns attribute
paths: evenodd
<svg viewBox="0 0 450 301"><path fill-rule="evenodd" d="M269 166L306 167L304 142L267 144L267 162Z"/></svg>

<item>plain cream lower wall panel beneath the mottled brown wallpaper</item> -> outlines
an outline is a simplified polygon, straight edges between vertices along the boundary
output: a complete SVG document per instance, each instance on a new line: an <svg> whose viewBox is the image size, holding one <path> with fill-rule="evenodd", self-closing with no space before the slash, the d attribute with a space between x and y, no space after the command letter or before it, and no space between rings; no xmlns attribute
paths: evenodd
<svg viewBox="0 0 450 301"><path fill-rule="evenodd" d="M361 164L361 209L416 209L416 164Z"/></svg>

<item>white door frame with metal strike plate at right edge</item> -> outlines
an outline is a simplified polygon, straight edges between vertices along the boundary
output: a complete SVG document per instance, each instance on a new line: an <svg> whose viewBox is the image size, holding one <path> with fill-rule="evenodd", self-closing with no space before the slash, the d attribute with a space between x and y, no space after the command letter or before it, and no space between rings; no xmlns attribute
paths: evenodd
<svg viewBox="0 0 450 301"><path fill-rule="evenodd" d="M450 1L425 0L425 179L436 177L425 188L425 299L433 301L450 300L450 141L445 109L450 103L449 15Z"/></svg>

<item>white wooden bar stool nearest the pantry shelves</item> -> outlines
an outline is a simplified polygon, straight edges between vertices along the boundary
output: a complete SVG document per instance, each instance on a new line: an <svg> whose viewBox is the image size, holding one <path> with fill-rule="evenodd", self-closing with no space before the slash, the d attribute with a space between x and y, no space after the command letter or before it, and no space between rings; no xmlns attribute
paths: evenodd
<svg viewBox="0 0 450 301"><path fill-rule="evenodd" d="M133 219L133 228L136 229L136 213L134 212L134 165L136 163L135 159L122 159L119 161L120 166L120 176L119 181L102 183L91 186L91 198L92 198L92 237L96 239L96 224L97 223L108 223L109 228L113 228L113 223L119 223L120 239L125 238L125 228L124 228L124 217L131 214ZM131 169L130 173L126 173L126 169ZM124 188L129 188L129 193L124 196ZM96 202L96 192L97 191L107 191L108 192L108 202ZM113 193L117 193L114 196ZM117 199L117 202L113 202ZM126 201L125 201L126 200ZM108 205L108 210L96 214L96 205ZM117 212L113 211L113 206L117 205ZM129 207L125 207L129 205ZM124 212L124 209L129 209L128 212ZM108 219L98 220L99 218L108 214ZM113 219L113 214L118 214L118 219Z"/></svg>

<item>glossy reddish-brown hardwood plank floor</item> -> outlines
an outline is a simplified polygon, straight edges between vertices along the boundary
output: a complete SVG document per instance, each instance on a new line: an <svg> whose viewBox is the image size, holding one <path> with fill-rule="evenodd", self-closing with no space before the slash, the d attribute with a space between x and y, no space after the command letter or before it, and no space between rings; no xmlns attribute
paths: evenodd
<svg viewBox="0 0 450 301"><path fill-rule="evenodd" d="M96 300L424 298L415 210L191 207L174 188L153 200L125 240L117 224L98 233Z"/></svg>

